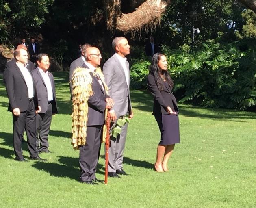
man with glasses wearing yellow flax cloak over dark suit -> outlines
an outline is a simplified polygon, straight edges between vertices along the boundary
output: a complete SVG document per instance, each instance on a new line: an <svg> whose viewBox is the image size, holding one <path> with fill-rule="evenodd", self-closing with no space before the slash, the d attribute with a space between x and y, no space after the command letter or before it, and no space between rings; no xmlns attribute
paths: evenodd
<svg viewBox="0 0 256 208"><path fill-rule="evenodd" d="M108 96L104 76L98 68L100 50L89 47L85 51L85 65L72 76L72 145L80 150L80 180L86 184L101 182L95 176L100 154L105 109L111 109L113 100ZM103 181L102 181L103 182Z"/></svg>

